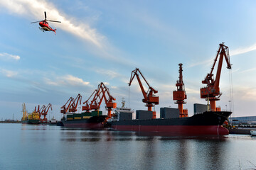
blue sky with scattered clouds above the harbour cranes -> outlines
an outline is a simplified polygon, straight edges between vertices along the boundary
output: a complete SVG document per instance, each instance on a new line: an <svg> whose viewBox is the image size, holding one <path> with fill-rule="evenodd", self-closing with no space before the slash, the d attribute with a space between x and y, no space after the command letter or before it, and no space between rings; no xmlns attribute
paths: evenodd
<svg viewBox="0 0 256 170"><path fill-rule="evenodd" d="M255 115L255 6L250 0L0 0L0 120L20 120L22 103L29 113L51 103L48 118L60 119L68 98L81 94L86 101L100 82L117 106L124 98L127 107L146 110L137 79L128 86L136 68L159 91L159 118L161 107L178 108L172 93L179 63L187 94L183 108L191 116L193 103L207 103L200 98L201 81L222 42L229 47L233 68L226 69L224 60L223 95L216 106L231 108L233 116ZM43 20L44 11L49 20L61 21L49 22L56 34L31 24Z"/></svg>

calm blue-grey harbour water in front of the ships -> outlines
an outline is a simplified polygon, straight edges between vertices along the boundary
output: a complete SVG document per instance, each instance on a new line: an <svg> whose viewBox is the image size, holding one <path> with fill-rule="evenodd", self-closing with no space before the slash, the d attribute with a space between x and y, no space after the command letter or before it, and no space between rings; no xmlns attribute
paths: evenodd
<svg viewBox="0 0 256 170"><path fill-rule="evenodd" d="M0 169L256 169L256 137L0 124Z"/></svg>

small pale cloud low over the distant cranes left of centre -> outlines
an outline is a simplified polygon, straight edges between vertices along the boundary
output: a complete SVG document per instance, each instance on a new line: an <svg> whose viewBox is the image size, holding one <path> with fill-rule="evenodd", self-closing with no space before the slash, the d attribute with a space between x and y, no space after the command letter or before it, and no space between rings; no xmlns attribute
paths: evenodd
<svg viewBox="0 0 256 170"><path fill-rule="evenodd" d="M61 86L61 85L71 85L71 86L89 86L90 82L83 81L78 77L74 77L70 74L63 77L57 77L55 81L45 78L45 82L48 85L52 86Z"/></svg>

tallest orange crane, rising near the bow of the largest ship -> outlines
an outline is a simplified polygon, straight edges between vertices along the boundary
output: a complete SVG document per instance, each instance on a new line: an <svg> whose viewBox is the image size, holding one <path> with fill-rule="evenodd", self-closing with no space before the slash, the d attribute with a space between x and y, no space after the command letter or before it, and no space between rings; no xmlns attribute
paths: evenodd
<svg viewBox="0 0 256 170"><path fill-rule="evenodd" d="M220 47L218 49L217 55L215 57L215 60L213 62L213 67L210 70L210 73L206 75L206 79L202 81L203 84L206 84L206 87L203 87L200 89L201 92L201 98L206 98L206 100L210 101L210 111L216 111L216 101L220 100L220 72L223 64L223 58L225 57L225 61L227 62L228 69L231 69L230 64L230 55L228 51L228 47L224 45L224 42L219 44ZM216 73L216 77L214 79L213 77L213 69L215 67L215 64L218 60L218 69Z"/></svg>

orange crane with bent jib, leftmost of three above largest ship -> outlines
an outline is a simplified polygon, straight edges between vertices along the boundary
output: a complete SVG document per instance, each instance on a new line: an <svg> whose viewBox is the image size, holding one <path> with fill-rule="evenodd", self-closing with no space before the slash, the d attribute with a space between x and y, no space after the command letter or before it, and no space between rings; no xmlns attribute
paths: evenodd
<svg viewBox="0 0 256 170"><path fill-rule="evenodd" d="M142 90L142 94L144 96L144 98L142 99L142 102L146 103L145 106L148 108L148 111L152 111L152 107L159 104L159 96L154 96L154 94L157 94L158 91L156 91L153 87L149 86L149 89L146 92L144 90L143 85L142 85L142 81L139 79L139 74L142 76L142 78L144 79L146 84L149 86L149 83L146 81L142 72L140 72L138 68L136 68L132 71L131 78L130 78L130 81L129 81L129 86L131 86L132 81L133 81L134 77L136 76L137 80L139 82L139 86ZM153 111L153 118L156 118L156 112L155 111Z"/></svg>

